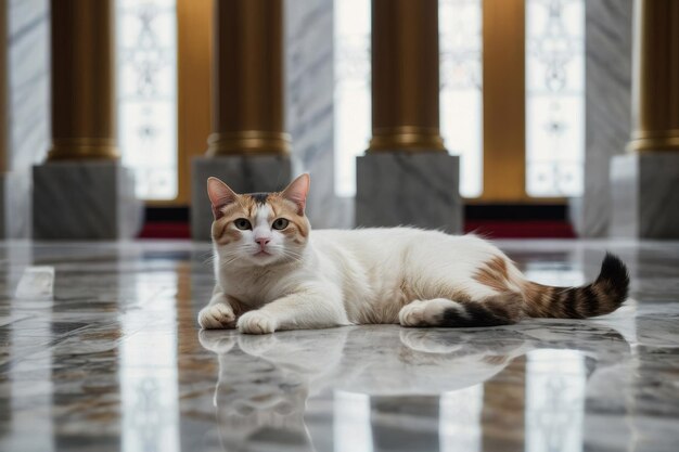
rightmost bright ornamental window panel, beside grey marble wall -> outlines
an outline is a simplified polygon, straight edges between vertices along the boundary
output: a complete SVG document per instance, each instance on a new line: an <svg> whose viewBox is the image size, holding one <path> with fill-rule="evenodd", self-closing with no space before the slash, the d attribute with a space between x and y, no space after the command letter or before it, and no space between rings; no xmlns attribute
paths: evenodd
<svg viewBox="0 0 679 452"><path fill-rule="evenodd" d="M578 196L585 157L585 1L526 1L526 192Z"/></svg>

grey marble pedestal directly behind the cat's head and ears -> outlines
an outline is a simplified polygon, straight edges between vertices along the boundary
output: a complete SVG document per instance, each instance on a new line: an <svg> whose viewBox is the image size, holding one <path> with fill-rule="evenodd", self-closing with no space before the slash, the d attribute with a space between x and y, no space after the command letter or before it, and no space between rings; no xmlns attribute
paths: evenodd
<svg viewBox="0 0 679 452"><path fill-rule="evenodd" d="M295 173L290 156L196 157L192 164L191 236L196 241L210 240L207 178L221 179L236 193L257 193L283 190Z"/></svg>

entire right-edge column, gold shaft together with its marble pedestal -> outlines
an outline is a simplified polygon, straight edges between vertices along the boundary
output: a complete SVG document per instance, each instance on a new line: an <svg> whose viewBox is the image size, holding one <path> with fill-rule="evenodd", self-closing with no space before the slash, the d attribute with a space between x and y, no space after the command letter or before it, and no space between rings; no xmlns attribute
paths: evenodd
<svg viewBox="0 0 679 452"><path fill-rule="evenodd" d="M632 133L611 167L611 234L679 238L679 2L635 4Z"/></svg>

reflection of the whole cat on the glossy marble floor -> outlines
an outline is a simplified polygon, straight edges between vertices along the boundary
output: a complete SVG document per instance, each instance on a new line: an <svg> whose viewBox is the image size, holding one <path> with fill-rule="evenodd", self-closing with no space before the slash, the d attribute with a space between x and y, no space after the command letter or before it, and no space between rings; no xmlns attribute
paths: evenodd
<svg viewBox="0 0 679 452"><path fill-rule="evenodd" d="M215 404L222 448L230 452L328 449L331 439L321 438L313 429L309 431L305 411L308 398L321 396L321 400L330 389L370 396L369 422L379 431L385 427L381 424L385 422L385 411L381 411L380 417L373 403L401 410L403 400L428 398L437 405L441 393L489 380L517 357L535 349L577 350L585 360L588 388L607 391L605 400L611 400L610 392L615 391L610 386L619 373L617 366L629 363L629 345L617 331L591 323L555 322L521 330L454 332L363 326L271 336L203 331L200 340L218 354ZM516 376L525 378L524 373L514 374L514 379ZM527 380L520 386L526 384ZM595 404L597 393L589 395L588 403ZM333 409L330 413L323 410L323 416L333 413ZM390 410L387 408L392 413L388 423L397 419L409 425L412 417L407 410ZM438 428L436 417L426 421ZM332 424L333 419L323 417L323 423ZM414 439L408 431L402 434L411 441L402 450L414 450L420 440L420 449L438 441L437 431ZM373 449L382 450L377 442Z"/></svg>

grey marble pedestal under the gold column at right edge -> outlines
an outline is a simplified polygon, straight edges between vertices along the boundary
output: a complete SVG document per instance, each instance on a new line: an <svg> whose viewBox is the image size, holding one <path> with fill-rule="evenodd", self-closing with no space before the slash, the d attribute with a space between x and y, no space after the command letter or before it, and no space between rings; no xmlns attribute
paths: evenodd
<svg viewBox="0 0 679 452"><path fill-rule="evenodd" d="M614 237L679 238L679 152L611 160Z"/></svg>

